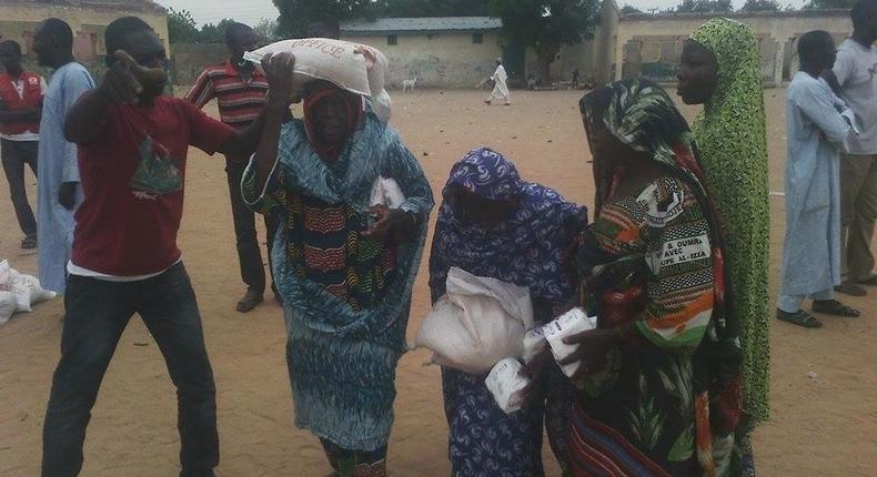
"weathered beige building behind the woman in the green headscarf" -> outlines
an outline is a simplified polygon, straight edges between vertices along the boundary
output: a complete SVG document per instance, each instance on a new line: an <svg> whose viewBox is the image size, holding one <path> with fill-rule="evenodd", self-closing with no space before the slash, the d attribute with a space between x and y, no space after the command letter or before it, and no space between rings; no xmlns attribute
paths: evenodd
<svg viewBox="0 0 877 477"><path fill-rule="evenodd" d="M797 70L797 39L810 30L826 30L843 40L853 29L846 10L735 13L728 18L749 26L762 51L762 74L767 84L788 80ZM710 16L636 14L623 17L615 45L615 78L646 77L675 82L685 39Z"/></svg>

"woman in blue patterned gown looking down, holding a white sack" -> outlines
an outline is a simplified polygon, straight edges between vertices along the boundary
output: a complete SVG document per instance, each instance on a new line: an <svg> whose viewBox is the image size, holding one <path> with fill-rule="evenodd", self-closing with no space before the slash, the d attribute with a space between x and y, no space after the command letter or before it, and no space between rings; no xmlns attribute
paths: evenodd
<svg viewBox="0 0 877 477"><path fill-rule="evenodd" d="M512 162L486 148L466 154L451 170L430 256L430 290L445 293L452 266L530 287L536 321L550 319L574 294L565 260L587 210L557 192L524 182ZM557 377L552 379L552 376ZM542 425L555 444L564 428L569 394L560 369L543 374L536 393L520 412L506 415L494 403L484 376L442 369L448 456L454 477L538 477ZM551 380L551 386L548 386ZM546 413L545 393L548 396ZM555 412L556 410L556 412ZM563 458L561 458L563 463Z"/></svg>

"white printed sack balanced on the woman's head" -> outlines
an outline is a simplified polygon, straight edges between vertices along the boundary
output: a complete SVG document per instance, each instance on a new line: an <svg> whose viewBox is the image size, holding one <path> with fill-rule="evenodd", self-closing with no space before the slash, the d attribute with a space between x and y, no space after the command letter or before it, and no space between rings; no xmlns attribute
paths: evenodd
<svg viewBox="0 0 877 477"><path fill-rule="evenodd" d="M304 84L313 80L329 81L339 88L370 98L375 115L383 122L390 121L392 101L384 89L390 61L380 50L343 40L304 38L278 41L255 51L248 51L243 58L261 63L265 54L282 52L295 57L293 91L300 92Z"/></svg>

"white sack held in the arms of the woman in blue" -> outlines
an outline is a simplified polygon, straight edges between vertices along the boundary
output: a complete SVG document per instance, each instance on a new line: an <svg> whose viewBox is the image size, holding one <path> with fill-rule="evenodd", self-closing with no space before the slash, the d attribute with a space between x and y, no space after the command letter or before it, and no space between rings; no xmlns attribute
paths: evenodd
<svg viewBox="0 0 877 477"><path fill-rule="evenodd" d="M452 267L446 290L414 342L433 351L433 363L483 375L503 358L521 356L533 327L528 288Z"/></svg>

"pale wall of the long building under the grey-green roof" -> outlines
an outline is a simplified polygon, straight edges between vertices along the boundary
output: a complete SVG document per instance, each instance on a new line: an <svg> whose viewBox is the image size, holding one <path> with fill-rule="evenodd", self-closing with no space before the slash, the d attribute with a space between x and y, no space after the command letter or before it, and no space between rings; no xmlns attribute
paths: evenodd
<svg viewBox="0 0 877 477"><path fill-rule="evenodd" d="M496 59L502 57L502 38L484 32L483 42L474 43L473 33L434 33L396 37L387 44L386 35L345 37L374 47L390 60L389 81L399 88L403 80L420 77L421 84L441 88L472 88L493 74Z"/></svg>

